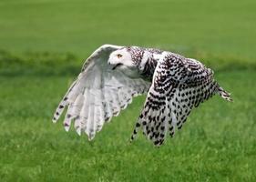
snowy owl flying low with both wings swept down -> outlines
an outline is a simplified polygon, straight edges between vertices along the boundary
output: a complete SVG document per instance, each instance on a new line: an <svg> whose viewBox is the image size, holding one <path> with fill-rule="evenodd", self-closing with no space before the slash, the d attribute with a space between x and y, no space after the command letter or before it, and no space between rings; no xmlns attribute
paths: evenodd
<svg viewBox="0 0 256 182"><path fill-rule="evenodd" d="M147 95L130 142L141 129L154 146L181 129L194 107L219 95L232 101L200 61L157 48L101 45L56 108L53 122L67 107L64 127L72 122L80 136L92 140L105 123L127 108L132 98Z"/></svg>

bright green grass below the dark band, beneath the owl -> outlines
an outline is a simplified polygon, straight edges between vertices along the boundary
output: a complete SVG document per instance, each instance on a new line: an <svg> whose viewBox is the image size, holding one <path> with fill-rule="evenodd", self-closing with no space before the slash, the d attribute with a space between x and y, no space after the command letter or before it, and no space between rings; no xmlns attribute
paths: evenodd
<svg viewBox="0 0 256 182"><path fill-rule="evenodd" d="M73 76L2 76L1 181L255 181L256 74L216 75L234 102L214 96L160 148L128 142L143 96L88 142L51 122Z"/></svg>

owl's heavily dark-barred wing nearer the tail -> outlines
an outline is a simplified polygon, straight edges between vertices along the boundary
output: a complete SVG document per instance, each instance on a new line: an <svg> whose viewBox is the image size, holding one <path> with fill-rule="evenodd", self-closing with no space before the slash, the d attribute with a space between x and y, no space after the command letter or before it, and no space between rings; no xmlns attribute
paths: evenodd
<svg viewBox="0 0 256 182"><path fill-rule="evenodd" d="M131 140L140 127L157 146L167 133L173 136L175 127L182 127L190 110L218 91L212 76L209 68L194 59L163 53Z"/></svg>

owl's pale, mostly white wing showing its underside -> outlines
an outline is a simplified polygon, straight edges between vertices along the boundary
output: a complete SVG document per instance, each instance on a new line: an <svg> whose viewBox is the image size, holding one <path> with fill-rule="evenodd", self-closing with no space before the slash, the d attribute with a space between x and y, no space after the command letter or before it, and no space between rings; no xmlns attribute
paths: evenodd
<svg viewBox="0 0 256 182"><path fill-rule="evenodd" d="M85 132L93 139L105 122L118 116L120 110L131 103L132 96L148 93L148 82L130 78L108 66L109 54L118 48L121 46L102 45L87 58L82 72L56 108L53 122L67 106L65 129L68 131L71 122L75 121L77 134Z"/></svg>

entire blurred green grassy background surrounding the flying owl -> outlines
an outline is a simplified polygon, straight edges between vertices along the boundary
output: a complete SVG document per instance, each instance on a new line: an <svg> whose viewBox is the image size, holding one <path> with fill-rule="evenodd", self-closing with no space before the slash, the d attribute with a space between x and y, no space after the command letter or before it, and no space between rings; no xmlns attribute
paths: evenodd
<svg viewBox="0 0 256 182"><path fill-rule="evenodd" d="M1 0L0 181L256 181L256 1ZM129 136L144 96L92 142L51 117L99 45L199 59L214 96L160 148Z"/></svg>

